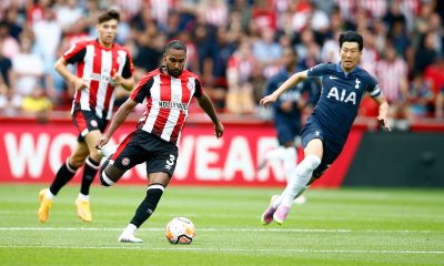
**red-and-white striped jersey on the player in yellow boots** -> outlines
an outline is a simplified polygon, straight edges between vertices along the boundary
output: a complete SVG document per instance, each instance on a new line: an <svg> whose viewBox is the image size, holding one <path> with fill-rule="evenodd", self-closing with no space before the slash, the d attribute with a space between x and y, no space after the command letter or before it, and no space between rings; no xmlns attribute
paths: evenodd
<svg viewBox="0 0 444 266"><path fill-rule="evenodd" d="M117 43L108 49L97 40L81 41L71 47L63 59L77 64L77 75L88 83L88 88L75 91L71 112L95 111L99 117L110 120L115 98L113 70L125 79L134 71L128 50Z"/></svg>

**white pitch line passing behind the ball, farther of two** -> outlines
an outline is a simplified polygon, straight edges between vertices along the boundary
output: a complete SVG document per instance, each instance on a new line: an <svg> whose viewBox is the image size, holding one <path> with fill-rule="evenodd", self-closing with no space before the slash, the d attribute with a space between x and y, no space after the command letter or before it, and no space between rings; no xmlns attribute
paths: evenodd
<svg viewBox="0 0 444 266"><path fill-rule="evenodd" d="M123 231L124 228L97 227L0 227L0 231ZM139 231L159 232L164 228L140 228ZM200 232L294 232L294 233L395 233L395 234L438 234L444 231L374 231L374 229L322 229L322 228L199 228Z"/></svg>

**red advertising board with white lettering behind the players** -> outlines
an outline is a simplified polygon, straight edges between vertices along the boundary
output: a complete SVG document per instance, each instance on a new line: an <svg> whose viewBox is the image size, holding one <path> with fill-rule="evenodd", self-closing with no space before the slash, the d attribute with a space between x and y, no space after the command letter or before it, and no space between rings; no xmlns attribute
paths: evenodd
<svg viewBox="0 0 444 266"><path fill-rule="evenodd" d="M112 142L123 140L133 129L134 123L123 125ZM343 154L316 182L316 186L341 185L361 137L361 131L352 131ZM1 122L0 182L50 183L75 142L77 130L68 122ZM225 124L224 136L216 140L212 124L188 124L180 140L179 160L171 184L284 186L281 162L271 162L258 171L259 157L275 145L271 125ZM78 173L73 182L79 181ZM119 184L145 183L145 168L141 164L129 171Z"/></svg>

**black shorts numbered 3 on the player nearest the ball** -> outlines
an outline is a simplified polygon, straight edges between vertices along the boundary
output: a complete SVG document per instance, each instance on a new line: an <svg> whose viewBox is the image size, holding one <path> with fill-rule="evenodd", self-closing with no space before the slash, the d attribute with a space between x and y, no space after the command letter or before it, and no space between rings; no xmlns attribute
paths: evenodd
<svg viewBox="0 0 444 266"><path fill-rule="evenodd" d="M178 146L143 130L135 130L120 143L110 164L120 170L147 163L147 174L163 172L173 176L178 161Z"/></svg>

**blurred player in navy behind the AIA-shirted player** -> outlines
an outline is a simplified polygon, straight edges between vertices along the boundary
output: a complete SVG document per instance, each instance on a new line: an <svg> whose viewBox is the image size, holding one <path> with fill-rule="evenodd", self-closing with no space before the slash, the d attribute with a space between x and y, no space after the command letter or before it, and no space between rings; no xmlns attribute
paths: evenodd
<svg viewBox="0 0 444 266"><path fill-rule="evenodd" d="M282 60L284 62L284 68L265 83L264 95L273 93L295 73L297 63L296 52L291 48L284 49ZM273 124L278 133L279 146L266 151L259 163L259 170L264 167L268 162L279 160L283 162L286 180L290 180L296 167L296 147L301 139L302 111L307 104L314 104L317 101L317 82L311 79L290 88L272 104ZM305 93L310 95L309 99L303 96ZM296 200L296 203L300 204L304 202L305 198L303 195Z"/></svg>

